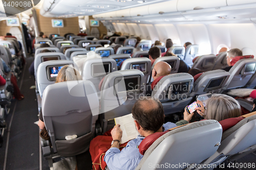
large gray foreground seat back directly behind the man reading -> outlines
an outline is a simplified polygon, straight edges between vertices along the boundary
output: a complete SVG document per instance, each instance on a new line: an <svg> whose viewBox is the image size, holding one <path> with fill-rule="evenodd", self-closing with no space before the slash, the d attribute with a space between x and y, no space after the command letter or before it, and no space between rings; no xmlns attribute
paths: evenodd
<svg viewBox="0 0 256 170"><path fill-rule="evenodd" d="M178 170L186 169L187 166L189 168L189 164L200 164L217 151L221 136L222 127L216 120L195 122L172 130L159 137L147 149L136 170L148 169L149 165L161 164L170 165L168 169ZM184 163L185 166L172 166L184 165Z"/></svg>

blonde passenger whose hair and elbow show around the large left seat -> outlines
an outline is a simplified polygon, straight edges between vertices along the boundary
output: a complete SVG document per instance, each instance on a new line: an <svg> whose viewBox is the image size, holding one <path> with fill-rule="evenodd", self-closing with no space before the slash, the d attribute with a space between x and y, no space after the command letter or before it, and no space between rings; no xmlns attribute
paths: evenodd
<svg viewBox="0 0 256 170"><path fill-rule="evenodd" d="M79 74L79 71L77 71L75 68L73 68L70 65L65 65L59 70L55 83L73 81L73 80L82 80L82 77ZM38 126L42 130L40 132L40 136L42 138L45 137L44 139L48 140L47 138L48 133L45 129L45 123L44 123L44 119L42 118L42 112L39 113Z"/></svg>

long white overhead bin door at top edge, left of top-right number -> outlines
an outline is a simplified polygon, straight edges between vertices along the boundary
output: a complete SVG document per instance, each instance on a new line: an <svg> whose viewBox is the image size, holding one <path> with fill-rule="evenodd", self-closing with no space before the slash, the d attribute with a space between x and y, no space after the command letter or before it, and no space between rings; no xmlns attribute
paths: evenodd
<svg viewBox="0 0 256 170"><path fill-rule="evenodd" d="M233 1L233 0L230 0ZM236 0L241 1L241 0ZM247 0L246 0L247 1ZM177 9L178 11L189 11L204 8L215 8L227 6L226 0L178 0Z"/></svg>

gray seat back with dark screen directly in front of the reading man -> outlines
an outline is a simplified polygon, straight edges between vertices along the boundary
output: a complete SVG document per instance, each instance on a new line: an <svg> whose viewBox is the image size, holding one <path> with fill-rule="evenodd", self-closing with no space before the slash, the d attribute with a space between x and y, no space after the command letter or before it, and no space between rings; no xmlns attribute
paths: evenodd
<svg viewBox="0 0 256 170"><path fill-rule="evenodd" d="M100 95L100 113L104 113L104 119L130 114L139 96L145 94L144 86L144 74L138 69L120 70L106 75Z"/></svg>

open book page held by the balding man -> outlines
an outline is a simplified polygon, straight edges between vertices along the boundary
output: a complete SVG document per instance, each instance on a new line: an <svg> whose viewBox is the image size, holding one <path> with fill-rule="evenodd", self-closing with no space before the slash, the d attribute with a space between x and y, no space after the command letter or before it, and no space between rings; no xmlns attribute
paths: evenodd
<svg viewBox="0 0 256 170"><path fill-rule="evenodd" d="M137 129L132 113L115 118L115 124L119 124L123 131L122 139L120 141L121 143L125 143L137 137Z"/></svg>

